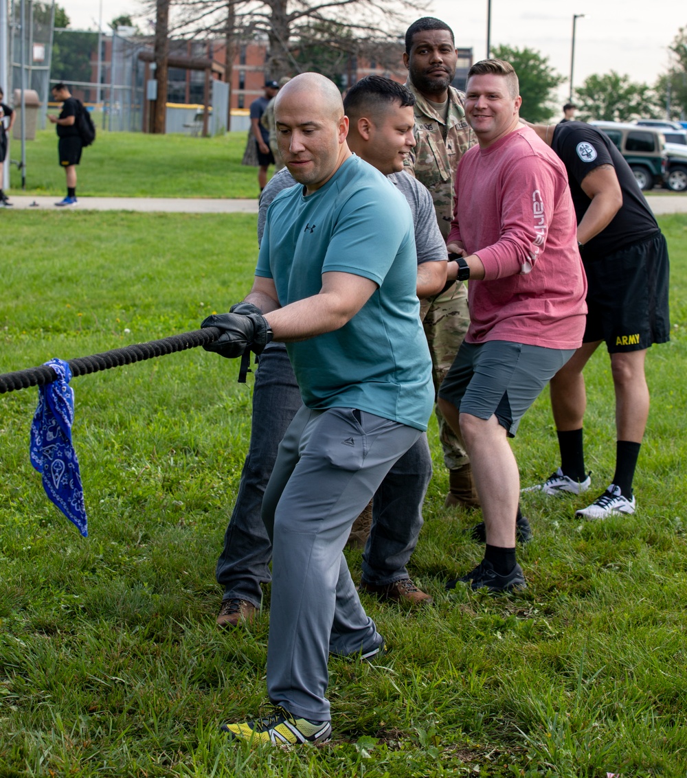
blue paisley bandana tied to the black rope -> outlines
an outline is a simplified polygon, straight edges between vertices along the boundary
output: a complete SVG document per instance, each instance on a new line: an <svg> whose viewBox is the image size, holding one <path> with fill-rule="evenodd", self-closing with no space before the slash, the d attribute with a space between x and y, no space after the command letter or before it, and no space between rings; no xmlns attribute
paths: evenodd
<svg viewBox="0 0 687 778"><path fill-rule="evenodd" d="M79 460L72 444L72 371L62 359L51 359L45 364L58 374L58 380L38 387L38 408L31 424L31 464L43 475L47 496L86 538L86 506Z"/></svg>

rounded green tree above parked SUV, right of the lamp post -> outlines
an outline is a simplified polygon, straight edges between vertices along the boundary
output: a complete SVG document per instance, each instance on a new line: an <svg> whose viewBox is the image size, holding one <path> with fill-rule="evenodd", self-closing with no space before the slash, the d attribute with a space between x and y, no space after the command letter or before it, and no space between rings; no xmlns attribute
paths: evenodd
<svg viewBox="0 0 687 778"><path fill-rule="evenodd" d="M661 111L660 99L648 84L630 81L629 75L615 70L590 75L575 93L583 119L630 121L657 117Z"/></svg>

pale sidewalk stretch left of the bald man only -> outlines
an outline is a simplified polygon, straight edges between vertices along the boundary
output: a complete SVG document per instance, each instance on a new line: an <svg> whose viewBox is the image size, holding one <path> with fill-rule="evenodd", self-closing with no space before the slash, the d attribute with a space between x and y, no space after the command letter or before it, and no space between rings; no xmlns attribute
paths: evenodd
<svg viewBox="0 0 687 778"><path fill-rule="evenodd" d="M51 211L163 211L166 213L258 213L254 200L210 200L203 198L80 197L75 206L56 208L59 197L12 195L14 210L48 209Z"/></svg>

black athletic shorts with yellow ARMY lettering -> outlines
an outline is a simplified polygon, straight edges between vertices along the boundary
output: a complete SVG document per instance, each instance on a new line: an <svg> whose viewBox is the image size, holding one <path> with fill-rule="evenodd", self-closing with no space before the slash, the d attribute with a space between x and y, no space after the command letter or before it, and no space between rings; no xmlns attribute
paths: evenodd
<svg viewBox="0 0 687 778"><path fill-rule="evenodd" d="M616 354L670 340L668 246L661 232L584 261L584 270L589 309L584 343L604 340L608 353Z"/></svg>

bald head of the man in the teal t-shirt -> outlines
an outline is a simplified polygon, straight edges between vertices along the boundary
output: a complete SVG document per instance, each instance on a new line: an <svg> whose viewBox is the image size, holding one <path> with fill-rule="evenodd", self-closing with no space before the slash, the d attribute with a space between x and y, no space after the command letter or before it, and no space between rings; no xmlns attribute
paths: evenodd
<svg viewBox="0 0 687 778"><path fill-rule="evenodd" d="M341 94L324 75L302 73L283 86L275 99L275 124L279 153L308 194L351 156Z"/></svg>

